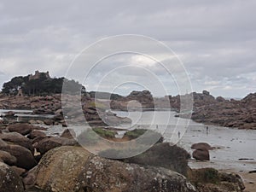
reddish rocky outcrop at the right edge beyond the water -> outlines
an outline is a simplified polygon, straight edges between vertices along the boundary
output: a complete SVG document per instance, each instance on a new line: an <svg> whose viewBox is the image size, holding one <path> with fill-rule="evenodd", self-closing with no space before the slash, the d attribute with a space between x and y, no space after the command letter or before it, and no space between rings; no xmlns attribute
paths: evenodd
<svg viewBox="0 0 256 192"><path fill-rule="evenodd" d="M209 94L194 94L195 108L192 119L197 122L256 129L256 93L249 94L241 101L225 100Z"/></svg>

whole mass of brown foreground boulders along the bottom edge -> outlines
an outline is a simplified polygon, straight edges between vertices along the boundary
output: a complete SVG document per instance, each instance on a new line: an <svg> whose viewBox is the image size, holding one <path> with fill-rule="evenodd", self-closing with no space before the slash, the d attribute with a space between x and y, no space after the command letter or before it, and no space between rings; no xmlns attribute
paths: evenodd
<svg viewBox="0 0 256 192"><path fill-rule="evenodd" d="M162 140L135 157L108 160L82 148L73 139L72 130L63 131L61 137L49 137L44 129L30 124L1 126L2 192L240 192L244 189L241 177L234 173L190 169L190 154ZM104 136L111 139L109 134Z"/></svg>

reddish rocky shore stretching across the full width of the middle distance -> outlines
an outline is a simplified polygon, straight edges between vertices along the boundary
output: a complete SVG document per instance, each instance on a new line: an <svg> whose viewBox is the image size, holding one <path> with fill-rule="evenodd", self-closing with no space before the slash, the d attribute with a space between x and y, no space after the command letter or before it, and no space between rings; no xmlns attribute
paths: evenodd
<svg viewBox="0 0 256 192"><path fill-rule="evenodd" d="M194 98L194 112L192 119L196 122L234 127L239 129L256 129L256 93L251 93L240 101L224 97L212 96L207 90L202 93L191 93ZM170 102L166 104L166 101ZM96 105L98 102L98 105ZM104 102L83 96L81 99L84 117L95 125L119 125L122 122L131 123L129 119L120 119L114 113L105 112L107 108ZM140 104L138 104L140 103ZM165 98L153 98L148 90L132 91L129 96L117 97L110 101L113 110L154 110L154 108L172 108L177 112L180 108L180 96L166 96ZM61 95L53 96L2 96L0 98L2 109L31 109L36 114L53 114L54 122L47 124L65 125L61 111ZM10 112L9 115L12 115ZM76 112L70 114L75 119L79 117ZM102 119L108 116L108 122ZM183 117L182 114L180 114ZM81 117L80 117L81 118ZM79 122L83 119L77 119Z"/></svg>

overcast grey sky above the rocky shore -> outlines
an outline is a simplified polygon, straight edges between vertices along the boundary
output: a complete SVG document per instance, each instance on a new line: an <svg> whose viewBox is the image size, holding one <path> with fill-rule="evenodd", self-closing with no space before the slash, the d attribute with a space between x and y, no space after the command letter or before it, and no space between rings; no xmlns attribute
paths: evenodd
<svg viewBox="0 0 256 192"><path fill-rule="evenodd" d="M254 0L2 0L0 84L37 69L49 71L52 77L65 76L75 55L97 40L139 34L159 40L177 54L193 90L243 97L256 91L255 10ZM173 80L157 73L160 69L156 62L142 55L119 55L105 63L118 61L116 66L124 62L134 66L126 68L123 77L142 75L134 73L136 67L154 68L168 93L175 95L170 88ZM95 90L96 79L102 79L109 70L107 64L98 68L84 82L86 88ZM125 84L123 88L115 90L125 94L125 89L129 92L134 87ZM104 84L103 90L112 91L111 83Z"/></svg>

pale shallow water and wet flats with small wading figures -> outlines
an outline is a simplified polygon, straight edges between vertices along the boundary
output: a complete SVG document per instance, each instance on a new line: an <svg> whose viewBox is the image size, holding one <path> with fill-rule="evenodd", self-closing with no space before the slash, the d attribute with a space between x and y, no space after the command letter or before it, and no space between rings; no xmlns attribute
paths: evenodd
<svg viewBox="0 0 256 192"><path fill-rule="evenodd" d="M201 162L190 160L189 166L195 168L214 167L217 169L235 169L236 171L250 171L256 170L256 131L253 130L238 130L226 127L207 125L209 131L207 134L206 125L195 123L188 119L175 118L174 112L115 112L120 116L128 116L137 121L137 125L151 125L158 128L167 127L163 132L166 141L173 140L173 134L176 135L177 131L182 132L178 145L185 148L192 154L193 143L209 143L212 147L218 147L210 151L210 161ZM166 119L170 119L167 121ZM140 119L138 119L140 117ZM154 120L153 117L155 117ZM174 127L176 126L176 131ZM187 126L188 125L188 126ZM184 127L187 129L184 131ZM161 131L162 132L162 131ZM253 160L238 160L241 158Z"/></svg>

